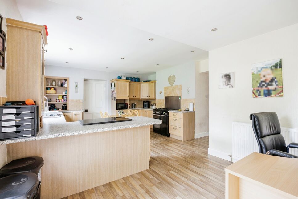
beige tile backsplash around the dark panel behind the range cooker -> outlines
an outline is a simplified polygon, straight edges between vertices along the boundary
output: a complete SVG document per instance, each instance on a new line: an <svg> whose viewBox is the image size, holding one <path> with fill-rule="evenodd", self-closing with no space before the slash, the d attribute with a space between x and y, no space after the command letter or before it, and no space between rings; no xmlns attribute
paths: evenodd
<svg viewBox="0 0 298 199"><path fill-rule="evenodd" d="M164 87L164 96L181 96L180 106L181 109L189 108L189 103L195 101L195 99L183 99L182 85L166 86ZM156 108L165 108L165 99L156 99ZM195 104L194 104L195 110Z"/></svg>

